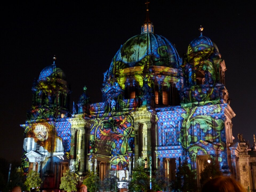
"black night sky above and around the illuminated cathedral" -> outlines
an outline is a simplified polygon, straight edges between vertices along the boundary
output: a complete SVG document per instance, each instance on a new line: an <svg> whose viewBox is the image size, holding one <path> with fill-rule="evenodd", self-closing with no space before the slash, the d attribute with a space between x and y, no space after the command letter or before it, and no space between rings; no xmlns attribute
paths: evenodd
<svg viewBox="0 0 256 192"><path fill-rule="evenodd" d="M88 2L88 3L85 3ZM226 63L226 89L233 118L233 136L242 133L252 146L255 113L255 6L249 1L152 0L155 33L175 44L180 55L203 35L215 42ZM71 85L71 101L83 87L91 102L101 101L103 73L121 44L141 33L144 0L19 2L0 8L1 139L0 158L20 161L31 87L43 68L53 63Z"/></svg>

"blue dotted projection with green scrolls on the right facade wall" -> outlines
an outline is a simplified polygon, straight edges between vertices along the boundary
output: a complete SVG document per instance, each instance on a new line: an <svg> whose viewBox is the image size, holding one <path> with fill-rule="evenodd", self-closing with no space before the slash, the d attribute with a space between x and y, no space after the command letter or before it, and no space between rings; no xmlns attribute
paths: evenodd
<svg viewBox="0 0 256 192"><path fill-rule="evenodd" d="M195 170L198 155L211 155L217 158L221 167L227 165L225 137L225 115L227 104L195 107L157 108L159 158L187 159ZM209 103L210 104L210 103ZM184 153L182 153L184 151ZM161 159L160 159L161 160Z"/></svg>

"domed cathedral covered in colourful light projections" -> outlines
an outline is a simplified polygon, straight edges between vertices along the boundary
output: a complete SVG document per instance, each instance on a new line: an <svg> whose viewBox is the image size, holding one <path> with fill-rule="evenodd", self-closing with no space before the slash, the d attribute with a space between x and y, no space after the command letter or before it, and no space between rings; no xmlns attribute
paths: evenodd
<svg viewBox="0 0 256 192"><path fill-rule="evenodd" d="M42 187L54 189L68 169L81 179L96 171L101 180L112 170L127 182L144 162L174 180L186 161L199 185L205 160L212 160L223 174L246 177L241 183L255 189L254 160L245 143L233 142L225 62L199 30L181 57L173 43L154 33L147 9L141 34L120 47L104 73L98 103L90 102L84 87L69 106L71 91L54 58L33 83L31 110L21 125L24 173L38 171Z"/></svg>

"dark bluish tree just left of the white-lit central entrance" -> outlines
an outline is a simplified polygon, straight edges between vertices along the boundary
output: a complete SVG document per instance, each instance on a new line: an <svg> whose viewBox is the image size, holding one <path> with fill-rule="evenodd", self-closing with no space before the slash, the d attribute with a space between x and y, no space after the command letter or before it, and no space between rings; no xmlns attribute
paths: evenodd
<svg viewBox="0 0 256 192"><path fill-rule="evenodd" d="M115 175L115 171L106 171L106 175L104 175L104 179L101 183L101 188L104 191L115 191L115 185L118 185L119 179ZM118 187L118 186L117 186Z"/></svg>

